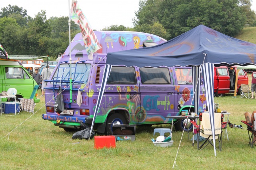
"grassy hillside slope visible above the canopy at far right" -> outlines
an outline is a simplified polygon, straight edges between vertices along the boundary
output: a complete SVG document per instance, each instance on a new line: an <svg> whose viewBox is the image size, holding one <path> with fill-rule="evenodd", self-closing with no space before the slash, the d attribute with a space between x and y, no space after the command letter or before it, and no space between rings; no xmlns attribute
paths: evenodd
<svg viewBox="0 0 256 170"><path fill-rule="evenodd" d="M256 43L256 27L244 28L235 38L246 42Z"/></svg>

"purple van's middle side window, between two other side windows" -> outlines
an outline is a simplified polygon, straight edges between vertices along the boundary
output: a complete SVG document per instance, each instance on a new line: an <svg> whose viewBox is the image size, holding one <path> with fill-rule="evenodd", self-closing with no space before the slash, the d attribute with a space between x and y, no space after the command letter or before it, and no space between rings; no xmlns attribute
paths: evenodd
<svg viewBox="0 0 256 170"><path fill-rule="evenodd" d="M142 84L170 84L168 68L140 68Z"/></svg>

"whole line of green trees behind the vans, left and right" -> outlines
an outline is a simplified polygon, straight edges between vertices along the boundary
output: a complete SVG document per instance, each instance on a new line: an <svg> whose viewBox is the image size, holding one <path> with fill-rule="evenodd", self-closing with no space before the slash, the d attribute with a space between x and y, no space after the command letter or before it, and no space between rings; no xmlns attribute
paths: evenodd
<svg viewBox="0 0 256 170"><path fill-rule="evenodd" d="M204 24L228 36L245 26L256 26L251 0L140 0L133 28L111 25L103 30L137 31L170 40ZM80 32L71 21L71 38ZM68 16L46 18L41 10L34 18L18 6L1 8L0 43L13 55L57 57L69 45Z"/></svg>

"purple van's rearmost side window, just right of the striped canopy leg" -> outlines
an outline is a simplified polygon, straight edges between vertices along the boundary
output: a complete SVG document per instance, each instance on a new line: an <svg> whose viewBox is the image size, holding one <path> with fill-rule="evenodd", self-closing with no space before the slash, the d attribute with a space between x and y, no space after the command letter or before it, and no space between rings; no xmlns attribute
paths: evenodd
<svg viewBox="0 0 256 170"><path fill-rule="evenodd" d="M112 67L108 84L136 84L134 67Z"/></svg>

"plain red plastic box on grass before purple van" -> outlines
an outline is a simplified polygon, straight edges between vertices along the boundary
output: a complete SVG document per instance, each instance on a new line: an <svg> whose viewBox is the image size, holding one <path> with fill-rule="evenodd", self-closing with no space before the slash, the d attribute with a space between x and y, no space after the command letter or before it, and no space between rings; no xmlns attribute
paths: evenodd
<svg viewBox="0 0 256 170"><path fill-rule="evenodd" d="M115 148L116 138L115 136L94 136L94 148Z"/></svg>

